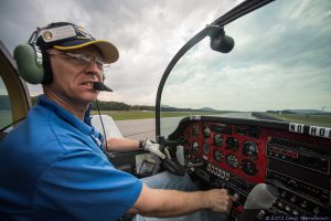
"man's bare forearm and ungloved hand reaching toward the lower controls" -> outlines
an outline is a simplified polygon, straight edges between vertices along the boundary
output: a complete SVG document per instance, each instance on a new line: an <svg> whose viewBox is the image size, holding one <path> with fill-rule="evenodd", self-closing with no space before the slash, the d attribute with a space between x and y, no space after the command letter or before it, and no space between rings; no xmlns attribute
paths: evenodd
<svg viewBox="0 0 331 221"><path fill-rule="evenodd" d="M228 213L232 198L225 189L184 192L178 190L151 189L142 186L139 198L129 213L145 217L179 217L202 209Z"/></svg>

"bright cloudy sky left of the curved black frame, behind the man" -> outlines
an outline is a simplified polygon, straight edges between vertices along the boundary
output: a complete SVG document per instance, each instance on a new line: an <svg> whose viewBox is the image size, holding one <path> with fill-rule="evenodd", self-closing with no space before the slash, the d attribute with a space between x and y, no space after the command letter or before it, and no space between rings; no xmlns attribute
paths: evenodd
<svg viewBox="0 0 331 221"><path fill-rule="evenodd" d="M68 21L114 43L119 60L106 72L114 93L99 98L154 105L161 76L180 48L239 0L0 0L0 40L25 43L36 27ZM30 94L42 93L29 85Z"/></svg>

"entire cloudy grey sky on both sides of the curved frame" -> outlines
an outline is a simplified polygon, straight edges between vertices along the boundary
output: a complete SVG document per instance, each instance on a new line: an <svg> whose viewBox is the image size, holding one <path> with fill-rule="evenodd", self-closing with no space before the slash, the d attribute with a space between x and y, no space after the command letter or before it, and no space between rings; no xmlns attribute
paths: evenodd
<svg viewBox="0 0 331 221"><path fill-rule="evenodd" d="M114 93L99 99L154 105L174 54L241 0L0 0L0 40L13 49L36 27L68 21L114 43L118 62L106 72ZM231 53L210 38L174 66L161 105L223 110L331 112L331 1L278 0L227 24ZM31 95L40 86L29 85Z"/></svg>

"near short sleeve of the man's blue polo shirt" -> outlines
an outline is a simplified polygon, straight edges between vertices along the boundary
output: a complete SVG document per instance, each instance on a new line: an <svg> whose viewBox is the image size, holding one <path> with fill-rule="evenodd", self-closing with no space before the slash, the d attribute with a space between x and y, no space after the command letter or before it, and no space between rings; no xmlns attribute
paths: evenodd
<svg viewBox="0 0 331 221"><path fill-rule="evenodd" d="M138 199L142 182L88 150L57 159L40 177L36 207L64 211L77 220L117 220Z"/></svg>

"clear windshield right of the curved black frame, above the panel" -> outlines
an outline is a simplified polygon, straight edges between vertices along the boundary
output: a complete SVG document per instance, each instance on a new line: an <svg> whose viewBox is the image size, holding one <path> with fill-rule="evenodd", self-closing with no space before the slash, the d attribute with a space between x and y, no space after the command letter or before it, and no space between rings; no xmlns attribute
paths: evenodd
<svg viewBox="0 0 331 221"><path fill-rule="evenodd" d="M181 118L217 115L331 127L331 1L279 0L227 24L234 49L205 38L173 67L161 135Z"/></svg>

